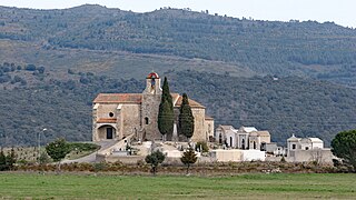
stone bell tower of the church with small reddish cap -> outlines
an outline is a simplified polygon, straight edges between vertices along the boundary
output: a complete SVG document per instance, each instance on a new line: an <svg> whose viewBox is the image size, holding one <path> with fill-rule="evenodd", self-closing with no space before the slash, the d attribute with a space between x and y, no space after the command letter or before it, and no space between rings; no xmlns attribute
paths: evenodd
<svg viewBox="0 0 356 200"><path fill-rule="evenodd" d="M142 92L141 102L141 129L146 136L141 139L142 141L161 139L157 126L161 94L159 76L156 72L149 73L146 77L146 89Z"/></svg>

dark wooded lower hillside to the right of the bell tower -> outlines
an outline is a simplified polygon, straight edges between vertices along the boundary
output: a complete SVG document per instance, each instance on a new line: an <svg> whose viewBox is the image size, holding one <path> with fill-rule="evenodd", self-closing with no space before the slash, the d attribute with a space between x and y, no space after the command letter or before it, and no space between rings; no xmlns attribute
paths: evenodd
<svg viewBox="0 0 356 200"><path fill-rule="evenodd" d="M196 71L167 77L175 80L172 91L187 92L206 106L216 126L254 126L270 131L279 143L295 133L319 137L329 146L337 132L356 128L355 89L299 77L234 78Z"/></svg>

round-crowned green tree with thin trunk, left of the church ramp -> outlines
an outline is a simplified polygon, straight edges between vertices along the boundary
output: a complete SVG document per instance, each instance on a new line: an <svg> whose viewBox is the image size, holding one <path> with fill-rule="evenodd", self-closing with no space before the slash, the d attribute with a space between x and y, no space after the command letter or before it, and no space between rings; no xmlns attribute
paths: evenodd
<svg viewBox="0 0 356 200"><path fill-rule="evenodd" d="M70 152L70 146L63 138L58 138L46 146L46 152L55 162L58 162L58 170L60 170L60 161Z"/></svg>

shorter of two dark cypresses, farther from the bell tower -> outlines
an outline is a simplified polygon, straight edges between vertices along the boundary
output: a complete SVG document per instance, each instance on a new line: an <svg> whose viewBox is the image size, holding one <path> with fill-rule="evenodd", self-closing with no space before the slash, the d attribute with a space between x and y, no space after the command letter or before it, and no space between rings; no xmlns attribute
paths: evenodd
<svg viewBox="0 0 356 200"><path fill-rule="evenodd" d="M190 139L194 134L194 116L186 93L182 94L178 120L179 133Z"/></svg>

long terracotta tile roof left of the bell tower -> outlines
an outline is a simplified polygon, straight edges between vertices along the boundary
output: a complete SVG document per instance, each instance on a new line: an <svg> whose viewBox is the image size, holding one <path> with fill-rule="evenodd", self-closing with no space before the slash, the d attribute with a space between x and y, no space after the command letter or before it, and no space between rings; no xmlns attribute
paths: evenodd
<svg viewBox="0 0 356 200"><path fill-rule="evenodd" d="M99 93L95 103L141 103L141 93Z"/></svg>

